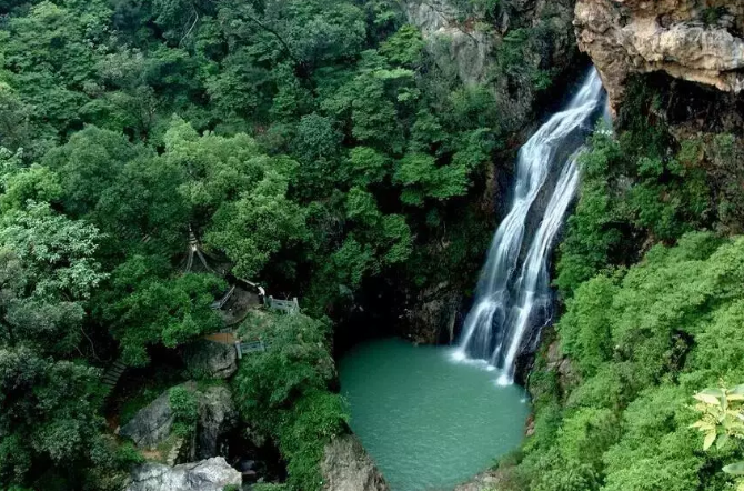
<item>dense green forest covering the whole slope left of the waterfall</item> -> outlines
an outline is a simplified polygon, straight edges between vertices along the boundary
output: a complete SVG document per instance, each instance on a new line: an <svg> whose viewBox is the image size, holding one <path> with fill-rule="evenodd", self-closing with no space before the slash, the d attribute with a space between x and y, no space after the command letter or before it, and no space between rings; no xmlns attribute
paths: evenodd
<svg viewBox="0 0 744 491"><path fill-rule="evenodd" d="M13 0L0 18L0 487L114 485L128 448L101 450L101 372L223 327L224 277L183 271L190 231L214 268L319 318L371 281L420 288L480 260L489 230L463 198L509 114L433 63L396 2ZM323 370L295 354L296 379L235 387L248 415L286 415L263 430L310 490L344 413L328 350L308 353Z"/></svg>

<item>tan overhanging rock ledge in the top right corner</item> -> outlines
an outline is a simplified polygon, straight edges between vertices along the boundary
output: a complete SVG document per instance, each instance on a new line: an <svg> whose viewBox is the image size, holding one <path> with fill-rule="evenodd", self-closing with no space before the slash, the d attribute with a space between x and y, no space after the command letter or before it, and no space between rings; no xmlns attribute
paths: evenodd
<svg viewBox="0 0 744 491"><path fill-rule="evenodd" d="M744 89L744 0L579 0L574 26L613 108L633 73Z"/></svg>

